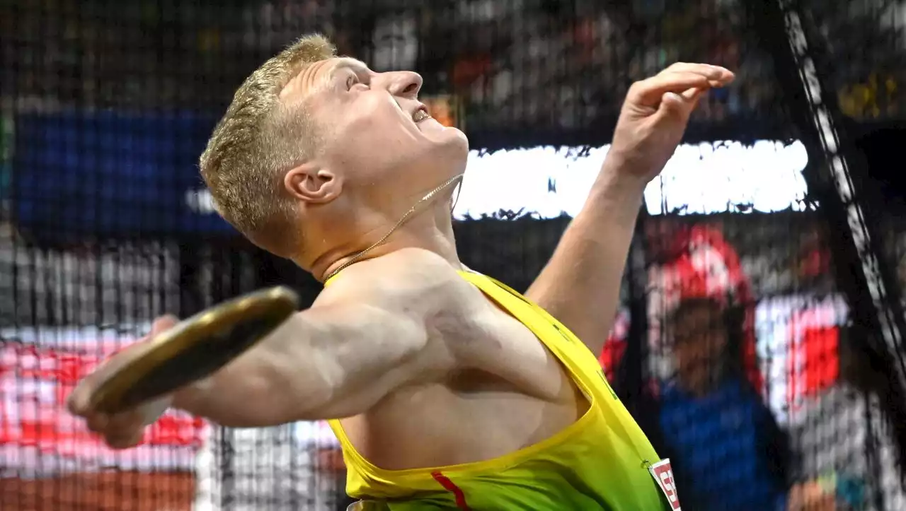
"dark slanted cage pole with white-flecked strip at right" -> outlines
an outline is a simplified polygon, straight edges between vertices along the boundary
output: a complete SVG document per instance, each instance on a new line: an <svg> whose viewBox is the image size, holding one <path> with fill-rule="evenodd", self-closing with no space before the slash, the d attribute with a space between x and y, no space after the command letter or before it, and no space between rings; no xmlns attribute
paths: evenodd
<svg viewBox="0 0 906 511"><path fill-rule="evenodd" d="M811 19L805 17L809 13L796 0L753 0L748 6L756 24L760 24L758 31L771 46L777 78L787 89L790 113L802 131L809 156L817 161L804 176L810 192L820 200L824 216L837 231L834 250L843 263L838 270L850 269L849 275L838 271L837 277L849 295L853 317L871 333L865 336L870 343L868 350L881 352L892 361L883 377L896 379L888 383L891 388L902 388L906 382L902 345L906 327L899 292L890 272L882 267L878 232L870 220L872 211L863 204L855 185L859 181L854 172L859 169L853 161L853 144L844 133L843 113L836 98L825 86L826 52L814 37ZM901 399L899 393L892 395ZM879 485L872 500L881 509L885 506L885 491L879 439L885 433L878 413L880 403L876 397L867 397L873 405L865 409L865 448L873 478ZM899 469L902 486L904 467Z"/></svg>

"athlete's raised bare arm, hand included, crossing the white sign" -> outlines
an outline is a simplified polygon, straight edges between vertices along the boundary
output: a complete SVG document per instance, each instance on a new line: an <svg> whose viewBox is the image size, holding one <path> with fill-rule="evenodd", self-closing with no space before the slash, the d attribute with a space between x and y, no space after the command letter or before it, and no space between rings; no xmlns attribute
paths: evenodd
<svg viewBox="0 0 906 511"><path fill-rule="evenodd" d="M644 187L673 155L702 91L731 80L723 68L679 62L632 85L582 211L526 292L595 355L613 325Z"/></svg>

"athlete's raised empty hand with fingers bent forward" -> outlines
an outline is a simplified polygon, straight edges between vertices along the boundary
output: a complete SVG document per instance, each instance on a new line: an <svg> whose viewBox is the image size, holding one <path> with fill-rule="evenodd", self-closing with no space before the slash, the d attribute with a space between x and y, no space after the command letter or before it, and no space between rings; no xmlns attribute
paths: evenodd
<svg viewBox="0 0 906 511"><path fill-rule="evenodd" d="M613 132L607 159L647 185L673 156L701 96L733 81L732 72L708 64L677 62L632 84Z"/></svg>

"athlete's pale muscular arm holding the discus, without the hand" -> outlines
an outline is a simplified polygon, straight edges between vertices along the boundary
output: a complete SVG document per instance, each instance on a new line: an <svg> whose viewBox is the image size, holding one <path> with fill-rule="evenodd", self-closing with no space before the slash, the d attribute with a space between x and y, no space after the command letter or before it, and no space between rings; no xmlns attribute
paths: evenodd
<svg viewBox="0 0 906 511"><path fill-rule="evenodd" d="M326 303L296 314L217 374L178 392L174 405L236 427L342 418L443 371L447 358L429 338L422 308L380 291L357 294L355 301L319 298Z"/></svg>

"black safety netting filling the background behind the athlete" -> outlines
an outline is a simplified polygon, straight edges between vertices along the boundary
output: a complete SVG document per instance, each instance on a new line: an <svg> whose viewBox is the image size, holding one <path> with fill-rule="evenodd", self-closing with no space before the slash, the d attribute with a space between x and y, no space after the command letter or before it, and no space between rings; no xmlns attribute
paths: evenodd
<svg viewBox="0 0 906 511"><path fill-rule="evenodd" d="M164 312L276 283L306 304L319 292L219 219L198 176L239 83L313 31L377 71L422 73L423 100L473 148L460 255L520 290L579 211L631 82L677 61L737 72L646 190L602 364L689 509L906 508L903 348L879 319L906 333L906 7L794 6L840 128L844 201L802 63L759 2L0 2L0 508L345 505L323 423L173 414L114 453L62 405ZM884 303L847 203L871 230Z"/></svg>

